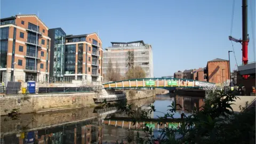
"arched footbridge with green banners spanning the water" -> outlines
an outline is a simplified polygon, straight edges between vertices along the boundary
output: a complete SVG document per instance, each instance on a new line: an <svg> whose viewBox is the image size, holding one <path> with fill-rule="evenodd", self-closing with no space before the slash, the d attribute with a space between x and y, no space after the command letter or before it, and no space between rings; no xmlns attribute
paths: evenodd
<svg viewBox="0 0 256 144"><path fill-rule="evenodd" d="M104 89L122 89L129 87L215 87L214 83L179 78L140 78L103 83Z"/></svg>

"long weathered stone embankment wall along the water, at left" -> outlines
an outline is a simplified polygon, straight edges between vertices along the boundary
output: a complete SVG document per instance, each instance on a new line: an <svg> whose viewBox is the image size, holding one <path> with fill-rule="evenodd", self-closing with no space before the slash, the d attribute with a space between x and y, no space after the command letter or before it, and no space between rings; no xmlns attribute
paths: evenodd
<svg viewBox="0 0 256 144"><path fill-rule="evenodd" d="M23 95L1 97L1 115L7 115L14 108L20 113L47 111L51 108L77 108L94 105L95 93L66 93L66 94L31 94L29 101L23 101ZM18 102L20 100L20 103ZM7 110L7 113L5 111Z"/></svg>

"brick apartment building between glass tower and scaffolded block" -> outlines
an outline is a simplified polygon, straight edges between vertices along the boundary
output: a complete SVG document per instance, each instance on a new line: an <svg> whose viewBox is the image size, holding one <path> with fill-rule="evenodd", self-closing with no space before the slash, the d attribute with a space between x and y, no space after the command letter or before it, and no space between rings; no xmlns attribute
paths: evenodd
<svg viewBox="0 0 256 144"><path fill-rule="evenodd" d="M102 42L96 33L67 35L64 77L102 81Z"/></svg>

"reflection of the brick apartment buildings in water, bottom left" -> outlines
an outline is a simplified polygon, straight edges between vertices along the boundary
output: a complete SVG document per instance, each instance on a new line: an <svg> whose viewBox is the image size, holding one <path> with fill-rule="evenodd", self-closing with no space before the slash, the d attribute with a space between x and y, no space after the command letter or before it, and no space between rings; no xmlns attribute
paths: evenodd
<svg viewBox="0 0 256 144"><path fill-rule="evenodd" d="M31 135L31 133L33 134ZM101 126L76 123L44 130L5 135L4 138L1 138L1 143L101 143L101 140Z"/></svg>

